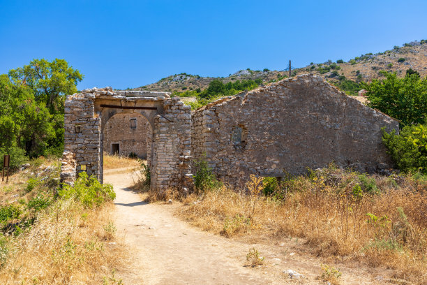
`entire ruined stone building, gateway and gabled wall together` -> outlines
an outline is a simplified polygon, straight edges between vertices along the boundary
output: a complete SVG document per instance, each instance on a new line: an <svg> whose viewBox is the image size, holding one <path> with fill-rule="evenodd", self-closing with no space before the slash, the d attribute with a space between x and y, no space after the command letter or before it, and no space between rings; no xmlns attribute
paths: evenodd
<svg viewBox="0 0 427 285"><path fill-rule="evenodd" d="M398 131L396 119L316 75L221 98L193 112L166 92L110 87L68 96L65 108L63 181L73 183L85 170L102 182L103 150L133 152L147 157L151 189L158 191L191 187L197 159L234 185L250 174L283 177L331 162L373 173L391 166L381 129Z"/></svg>

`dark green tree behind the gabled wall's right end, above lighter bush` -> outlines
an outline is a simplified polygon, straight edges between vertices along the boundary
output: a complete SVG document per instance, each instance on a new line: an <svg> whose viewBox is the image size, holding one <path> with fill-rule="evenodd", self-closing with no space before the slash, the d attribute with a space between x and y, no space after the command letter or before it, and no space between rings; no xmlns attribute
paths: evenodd
<svg viewBox="0 0 427 285"><path fill-rule="evenodd" d="M417 74L398 78L396 73L382 71L384 80L361 83L368 91L369 106L399 119L403 125L421 124L427 119L427 78Z"/></svg>

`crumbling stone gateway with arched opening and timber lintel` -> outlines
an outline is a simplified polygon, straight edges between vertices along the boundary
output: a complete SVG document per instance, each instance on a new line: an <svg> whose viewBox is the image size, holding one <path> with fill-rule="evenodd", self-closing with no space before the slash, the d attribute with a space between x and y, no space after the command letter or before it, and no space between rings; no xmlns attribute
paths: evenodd
<svg viewBox="0 0 427 285"><path fill-rule="evenodd" d="M103 136L110 118L142 115L152 130L147 161L151 189L190 184L191 109L167 92L85 89L65 102L65 140L61 179L69 184L85 170L103 182Z"/></svg>

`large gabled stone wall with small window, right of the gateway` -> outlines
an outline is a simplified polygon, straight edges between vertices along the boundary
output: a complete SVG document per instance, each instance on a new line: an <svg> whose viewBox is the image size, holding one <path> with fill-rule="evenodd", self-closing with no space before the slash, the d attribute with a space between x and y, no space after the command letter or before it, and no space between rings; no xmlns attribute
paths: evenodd
<svg viewBox="0 0 427 285"><path fill-rule="evenodd" d="M193 112L195 159L206 154L221 179L282 177L335 162L373 172L389 166L381 128L398 122L338 91L319 76L300 75Z"/></svg>

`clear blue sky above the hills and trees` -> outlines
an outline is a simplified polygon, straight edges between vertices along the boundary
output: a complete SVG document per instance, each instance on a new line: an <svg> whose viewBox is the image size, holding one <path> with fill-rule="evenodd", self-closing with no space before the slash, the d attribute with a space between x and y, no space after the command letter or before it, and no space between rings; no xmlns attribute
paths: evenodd
<svg viewBox="0 0 427 285"><path fill-rule="evenodd" d="M0 0L0 73L66 59L79 89L283 69L427 38L427 1Z"/></svg>

